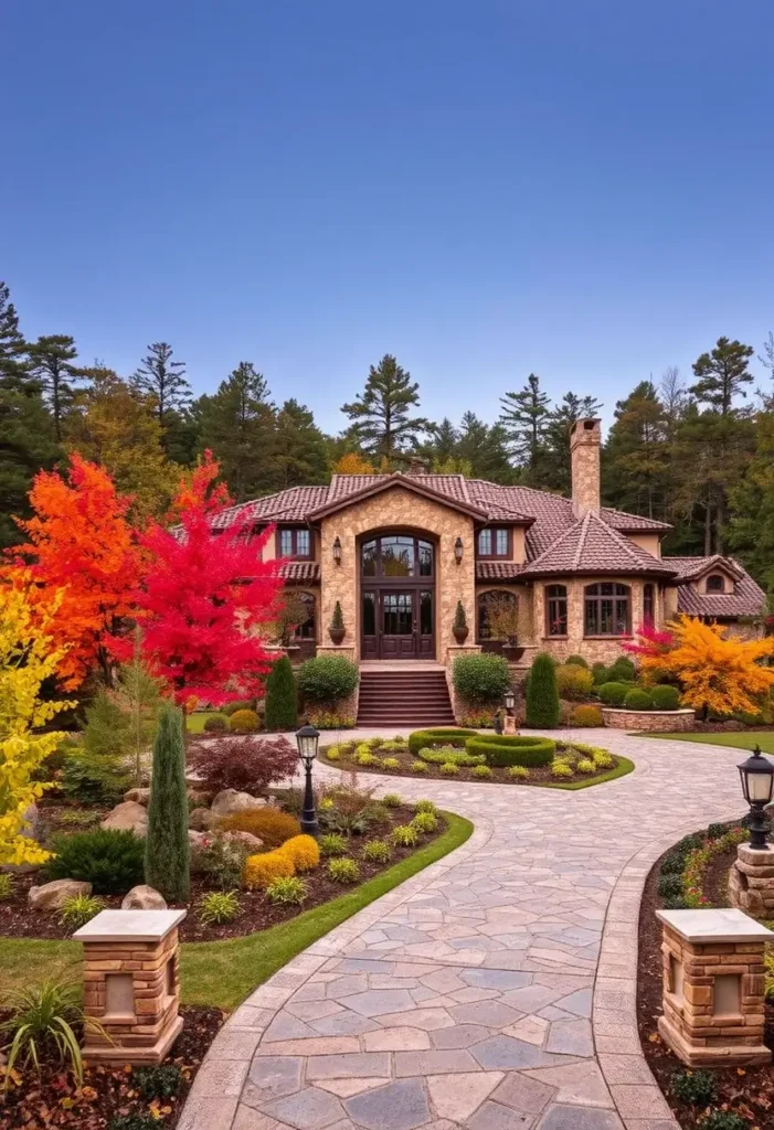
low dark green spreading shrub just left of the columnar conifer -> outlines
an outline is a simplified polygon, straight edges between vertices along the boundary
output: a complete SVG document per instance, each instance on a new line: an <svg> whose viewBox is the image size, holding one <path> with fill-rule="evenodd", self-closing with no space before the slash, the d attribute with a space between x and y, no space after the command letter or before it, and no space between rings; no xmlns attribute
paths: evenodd
<svg viewBox="0 0 774 1130"><path fill-rule="evenodd" d="M96 895L122 895L144 881L145 844L133 832L95 828L58 835L51 850L55 854L45 866L49 879L80 879L90 883Z"/></svg>

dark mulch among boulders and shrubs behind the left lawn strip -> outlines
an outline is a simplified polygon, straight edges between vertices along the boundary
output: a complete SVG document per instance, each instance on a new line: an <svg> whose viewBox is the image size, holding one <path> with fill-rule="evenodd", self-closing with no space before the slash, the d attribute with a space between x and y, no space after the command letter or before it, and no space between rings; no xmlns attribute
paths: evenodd
<svg viewBox="0 0 774 1130"><path fill-rule="evenodd" d="M366 840L388 836L392 827L399 824L409 824L415 815L414 809L407 805L401 805L399 808L391 808L388 811L390 816L389 826L374 827L366 836L351 837L351 854L360 864L362 883L366 883L381 871L385 871L388 868L399 863L407 855L411 855L420 847L432 843L437 836L443 834L446 827L443 817L441 817L437 831L429 835L421 835L416 847L395 846L393 847L392 859L389 863L372 863L364 860L360 854L360 847ZM53 819L51 815L49 818ZM319 868L306 872L303 878L307 885L308 897L301 906L276 906L267 901L261 890L241 890L241 912L238 918L223 925L205 925L199 921L195 907L202 896L212 890L212 886L207 885L201 878L193 876L191 879L190 903L171 904L175 909L177 906L189 909L188 916L180 925L181 941L219 941L224 938L241 938L244 935L256 933L260 930L267 930L269 927L278 925L280 922L287 922L289 919L296 918L313 906L320 906L321 903L330 902L333 898L338 898L339 895L346 895L348 892L356 889L355 884L345 885L329 879L324 860L321 861ZM27 902L29 888L44 881L45 879L40 873L34 872L15 877L12 898L0 903L0 936L9 938L59 939L71 936L71 929L60 925L58 911L38 911L29 907ZM121 895L105 895L99 897L104 898L105 905L111 910L118 910L121 906Z"/></svg>

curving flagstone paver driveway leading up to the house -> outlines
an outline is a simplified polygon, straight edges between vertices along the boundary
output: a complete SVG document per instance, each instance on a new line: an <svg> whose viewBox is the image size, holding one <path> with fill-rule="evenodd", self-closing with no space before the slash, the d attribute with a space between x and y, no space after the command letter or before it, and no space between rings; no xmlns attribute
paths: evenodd
<svg viewBox="0 0 774 1130"><path fill-rule="evenodd" d="M684 832L740 814L742 755L576 737L635 773L574 793L372 777L473 835L237 1009L182 1130L672 1130L636 1031L640 895Z"/></svg>

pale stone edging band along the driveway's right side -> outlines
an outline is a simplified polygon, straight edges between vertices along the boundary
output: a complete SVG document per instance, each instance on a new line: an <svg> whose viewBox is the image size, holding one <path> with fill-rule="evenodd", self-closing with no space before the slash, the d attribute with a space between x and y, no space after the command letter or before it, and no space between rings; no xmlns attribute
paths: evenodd
<svg viewBox="0 0 774 1130"><path fill-rule="evenodd" d="M694 819L682 825L681 834L695 831ZM605 916L591 1023L597 1059L626 1130L680 1130L642 1051L637 959L645 880L681 834L670 832L632 857L612 888Z"/></svg>

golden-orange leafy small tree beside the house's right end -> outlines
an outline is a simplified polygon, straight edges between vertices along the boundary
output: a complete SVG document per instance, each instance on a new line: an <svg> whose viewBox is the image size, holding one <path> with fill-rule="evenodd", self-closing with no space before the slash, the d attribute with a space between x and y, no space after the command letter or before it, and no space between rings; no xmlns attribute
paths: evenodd
<svg viewBox="0 0 774 1130"><path fill-rule="evenodd" d="M659 654L640 655L645 675L669 672L680 683L682 705L705 716L760 710L760 698L774 686L774 668L760 662L774 654L774 637L729 638L723 625L686 615L667 627L673 635L672 646Z"/></svg>

